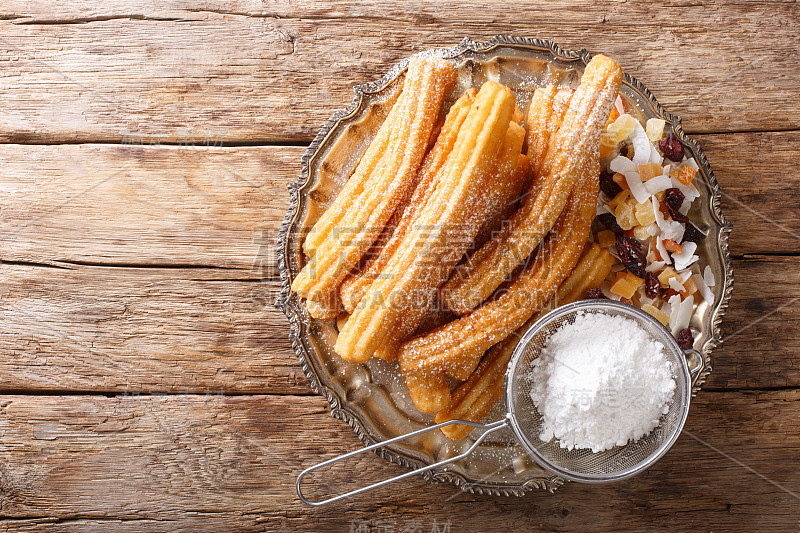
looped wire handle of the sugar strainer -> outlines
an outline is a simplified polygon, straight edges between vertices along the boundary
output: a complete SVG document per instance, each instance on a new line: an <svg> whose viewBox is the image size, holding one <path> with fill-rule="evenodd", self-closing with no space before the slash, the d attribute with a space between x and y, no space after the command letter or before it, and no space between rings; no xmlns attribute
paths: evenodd
<svg viewBox="0 0 800 533"><path fill-rule="evenodd" d="M369 451L372 451L372 450L377 450L378 448L382 448L382 447L384 447L384 446L386 446L388 444L399 442L401 440L405 440L405 439L408 439L408 438L411 438L411 437L415 437L417 435L422 435L423 433L428 433L429 431L434 431L436 429L443 428L445 426L449 426L450 424L464 424L464 425L467 425L467 426L472 426L474 428L480 428L480 429L484 430L484 433L481 434L481 436L478 437L477 440L475 440L475 442L472 444L472 446L467 448L467 450L465 452L463 452L463 453L461 453L459 455L456 455L455 457L450 457L450 458L445 459L443 461L439 461L438 463L433 463L432 465L427 465L427 466L424 466L422 468L417 468L415 470L411 470L410 472L406 472L404 474L400 474L399 476L395 476L393 478L385 479L383 481L379 481L377 483L373 483L372 485L367 485L366 487L361 487L360 489L351 490L350 492L345 492L344 494L339 494L338 496L333 496L331 498L328 498L327 500L322 500L322 501L316 501L315 502L315 501L311 501L308 498L306 498L305 496L303 496L303 492L300 489L300 483L301 483L301 481L303 480L303 478L306 475L310 474L311 472L313 472L315 470L319 470L320 468L324 468L326 466L330 466L330 465L332 465L334 463L338 463L339 461L344 461L345 459L349 459L350 457L353 457L353 456L356 456L356 455L359 455L359 454L362 454L362 453L365 453L365 452L369 452ZM426 428L418 429L417 431L412 431L411 433L406 433L405 435L400 435L399 437L395 437L393 439L385 440L383 442L378 442L376 444L373 444L372 446L367 446L366 448L361 448L360 450L356 450L356 451L353 451L353 452L350 452L350 453L346 453L346 454L340 455L339 457L334 457L333 459L328 459L327 461L323 461L323 462L321 462L319 464L316 464L314 466L311 466L311 467L306 468L305 470L303 470L302 472L300 472L300 475L297 476L297 483L295 484L295 488L297 489L297 496L303 501L303 503L306 503L308 505L313 505L315 507L319 507L321 505L325 505L325 504L328 504L328 503L333 503L333 502L336 502L336 501L339 501L339 500L343 500L345 498L349 498L350 496L355 496L356 494L361 494L362 492L367 492L368 490L377 489L378 487L382 487L384 485L388 485L389 483L393 483L395 481L399 481L401 479L405 479L407 477L411 477L411 476L413 476L415 474L421 474L422 472L427 472L428 470L433 470L434 468L437 468L437 467L440 467L440 466L444 466L444 465L448 465L450 463L458 461L459 459L463 459L464 457L467 457L469 454L471 454L473 452L473 450L475 450L475 448L477 448L478 445L481 442L483 442L483 439L485 439L490 433L493 433L493 432L495 432L495 431L497 431L499 429L502 429L502 428L504 428L506 426L508 426L508 419L507 418L504 418L502 420L498 420L496 422L492 422L490 424L479 424L479 423L476 423L476 422L470 422L468 420L457 420L457 419L454 419L454 420L448 420L447 422L442 422L441 424L436 424L434 426L429 426L429 427L426 427Z"/></svg>

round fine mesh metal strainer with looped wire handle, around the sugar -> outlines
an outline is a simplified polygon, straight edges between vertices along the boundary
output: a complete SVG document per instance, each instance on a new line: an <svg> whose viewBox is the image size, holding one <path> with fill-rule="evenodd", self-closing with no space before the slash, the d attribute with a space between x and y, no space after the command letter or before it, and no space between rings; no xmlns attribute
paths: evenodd
<svg viewBox="0 0 800 533"><path fill-rule="evenodd" d="M550 335L561 326L574 322L580 312L622 316L635 321L652 340L664 346L664 353L671 363L675 379L675 392L668 405L668 411L661 416L658 426L653 431L635 442L596 453L586 448L567 450L562 448L555 438L546 442L539 438L542 417L531 399L530 390L533 383L527 377L531 362L539 355ZM551 311L533 324L514 350L505 376L505 418L489 424L449 420L340 455L301 472L297 477L297 495L309 505L320 506L382 487L463 459L470 455L489 434L505 427L511 428L520 445L534 461L559 476L584 483L605 483L625 479L653 466L672 447L689 413L692 384L702 370L703 358L699 352L682 350L672 334L660 322L637 307L614 300L583 300L567 304ZM465 424L479 428L483 433L465 452L443 461L326 500L311 501L303 496L300 484L307 474L315 470L450 424Z"/></svg>

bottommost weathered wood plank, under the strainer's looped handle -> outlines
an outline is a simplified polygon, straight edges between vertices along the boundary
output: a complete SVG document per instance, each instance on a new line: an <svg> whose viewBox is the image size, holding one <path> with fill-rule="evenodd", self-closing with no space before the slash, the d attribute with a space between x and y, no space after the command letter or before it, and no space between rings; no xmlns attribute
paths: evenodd
<svg viewBox="0 0 800 533"><path fill-rule="evenodd" d="M5 397L0 527L793 531L800 512L798 400L798 391L700 394L670 453L614 485L496 498L411 479L311 509L294 494L297 473L359 446L319 398ZM364 456L326 483L338 490L401 471Z"/></svg>

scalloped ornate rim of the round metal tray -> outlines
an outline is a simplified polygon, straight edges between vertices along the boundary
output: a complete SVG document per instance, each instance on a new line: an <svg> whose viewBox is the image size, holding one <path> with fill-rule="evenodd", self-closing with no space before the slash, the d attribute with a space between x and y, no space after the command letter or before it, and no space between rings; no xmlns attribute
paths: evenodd
<svg viewBox="0 0 800 533"><path fill-rule="evenodd" d="M353 113L360 108L365 94L380 92L391 82L393 82L397 76L406 69L408 62L412 57L417 57L420 55L438 55L445 59L454 59L466 52L488 52L501 46L549 51L554 59L561 59L564 61L582 61L584 66L591 59L591 55L585 49L576 51L563 50L558 44L550 40L530 39L526 37L515 37L510 35L496 35L484 42L475 42L469 38L464 38L463 41L451 48L437 48L409 56L394 65L389 72L387 72L379 80L357 85L353 88L353 101L345 109L336 111L333 116L331 116L331 118L322 126L319 133L317 133L314 140L303 153L303 157L301 159L302 170L300 176L294 183L289 185L289 209L283 218L283 222L281 223L278 233L278 246L276 250L278 268L281 275L281 291L275 301L275 306L283 311L289 320L289 340L292 344L292 349L297 356L297 360L303 369L303 373L308 380L309 386L315 393L325 397L330 406L331 415L335 418L343 420L351 428L353 428L353 431L365 446L376 443L377 439L375 439L366 431L366 428L363 426L358 416L342 403L341 398L339 398L332 389L322 385L316 369L309 363L307 358L307 348L302 342L302 334L304 330L304 320L302 318L303 316L306 316L306 313L300 304L297 295L291 292L288 259L289 230L299 214L300 190L308 184L310 179L311 159L314 157L317 150L319 150L319 148L323 145L331 131L335 129L339 122L352 116ZM698 377L695 386L692 389L692 393L694 395L700 390L700 387L703 385L703 383L705 383L712 370L711 350L722 342L722 316L728 307L728 303L733 291L733 263L731 261L730 252L728 249L728 238L731 231L731 224L730 222L726 221L720 209L721 193L719 184L714 176L714 172L711 170L711 167L708 164L708 159L706 159L703 150L700 148L697 142L686 136L681 125L680 117L666 111L661 104L658 103L655 96L653 96L647 87L645 87L639 80L630 74L625 73L623 83L630 85L637 92L645 96L653 111L664 120L670 122L678 139L684 145L689 147L692 155L695 157L695 161L697 162L698 166L701 167L707 178L707 183L711 190L711 194L709 195L711 201L711 212L720 225L717 242L719 252L723 258L723 263L725 266L725 279L723 280L724 291L722 298L720 298L720 301L712 310L711 335L700 350L700 353L703 354L706 367ZM417 469L421 466L424 466L422 461L394 450L379 449L376 450L376 454L379 457L406 468ZM472 494L487 494L493 496L522 496L533 489L544 489L552 493L564 483L562 478L555 475L547 480L534 479L519 485L511 486L486 482L474 482L457 472L446 470L424 472L422 476L431 482L453 483L459 489Z"/></svg>

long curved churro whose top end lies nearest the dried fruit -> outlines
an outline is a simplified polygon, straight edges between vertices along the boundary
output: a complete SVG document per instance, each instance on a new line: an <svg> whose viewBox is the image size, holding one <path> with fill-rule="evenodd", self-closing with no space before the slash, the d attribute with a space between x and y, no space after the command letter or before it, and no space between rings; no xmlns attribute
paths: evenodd
<svg viewBox="0 0 800 533"><path fill-rule="evenodd" d="M541 184L445 285L442 301L453 312L465 314L486 300L550 230L598 143L621 81L619 65L603 55L586 66L542 163Z"/></svg>

